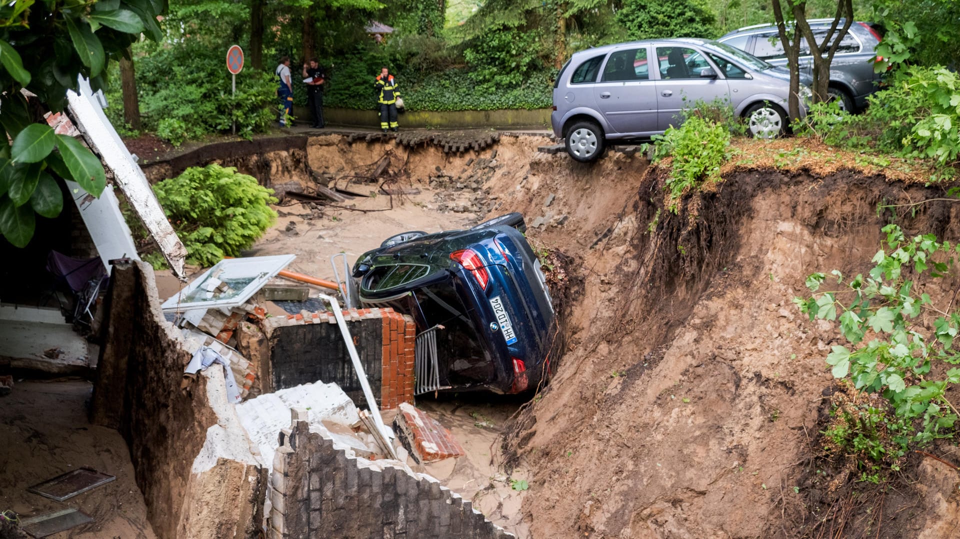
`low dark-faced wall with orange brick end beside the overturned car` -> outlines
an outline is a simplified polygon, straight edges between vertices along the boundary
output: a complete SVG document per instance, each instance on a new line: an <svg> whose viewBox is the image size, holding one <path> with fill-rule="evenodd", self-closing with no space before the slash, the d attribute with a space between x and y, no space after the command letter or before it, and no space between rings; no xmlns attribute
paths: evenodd
<svg viewBox="0 0 960 539"><path fill-rule="evenodd" d="M343 312L380 407L392 409L400 403L413 403L413 319L392 308L353 308ZM304 311L268 318L264 332L275 390L323 380L340 385L355 403L366 403L332 312Z"/></svg>

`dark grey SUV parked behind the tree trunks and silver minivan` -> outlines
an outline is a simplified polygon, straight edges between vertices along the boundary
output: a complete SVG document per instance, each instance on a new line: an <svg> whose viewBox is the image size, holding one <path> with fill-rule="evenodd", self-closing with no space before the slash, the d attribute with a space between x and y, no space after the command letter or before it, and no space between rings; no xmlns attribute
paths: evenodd
<svg viewBox="0 0 960 539"><path fill-rule="evenodd" d="M833 19L810 19L808 22L813 35L817 39L823 39L827 37ZM840 27L843 23L841 19ZM786 65L783 44L780 43L780 34L775 25L748 26L720 37L717 41L774 65ZM867 104L867 96L876 91L880 76L874 73L874 63L876 45L879 42L880 35L876 31L876 25L859 21L851 24L847 35L840 41L830 63L829 93L840 104L841 109L851 112L863 109ZM800 52L801 73L812 75L812 58L810 48L804 40Z"/></svg>

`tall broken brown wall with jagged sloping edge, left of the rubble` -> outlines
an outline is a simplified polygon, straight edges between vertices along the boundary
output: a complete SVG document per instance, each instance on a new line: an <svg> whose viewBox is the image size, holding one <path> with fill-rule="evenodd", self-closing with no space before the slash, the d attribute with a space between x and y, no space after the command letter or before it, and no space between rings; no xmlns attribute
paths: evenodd
<svg viewBox="0 0 960 539"><path fill-rule="evenodd" d="M266 470L228 404L223 367L183 379L191 353L160 312L153 269L113 268L91 422L127 440L158 537L256 537Z"/></svg>

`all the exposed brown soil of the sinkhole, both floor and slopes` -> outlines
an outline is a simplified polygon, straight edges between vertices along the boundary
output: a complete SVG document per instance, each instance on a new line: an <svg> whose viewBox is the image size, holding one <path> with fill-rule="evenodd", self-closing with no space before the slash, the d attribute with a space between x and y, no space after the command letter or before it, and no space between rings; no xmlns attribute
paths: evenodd
<svg viewBox="0 0 960 539"><path fill-rule="evenodd" d="M943 194L923 186L926 171L816 144L743 142L725 182L674 214L662 168L625 153L592 165L535 153L548 143L503 135L492 148L444 153L311 137L315 174L299 188L322 179L376 196L287 202L250 252L298 254L292 269L329 279L330 256L352 264L394 233L525 214L540 256L555 253L566 353L529 404L421 399L471 450L432 473L520 537L960 535L960 477L947 465L916 454L881 487L825 455L819 431L837 388L824 357L839 333L792 305L811 272L869 269L893 218L877 205ZM956 241L957 211L931 203L897 220ZM956 283L928 292L942 297ZM931 452L952 461L952 442ZM528 479L529 490L509 478Z"/></svg>

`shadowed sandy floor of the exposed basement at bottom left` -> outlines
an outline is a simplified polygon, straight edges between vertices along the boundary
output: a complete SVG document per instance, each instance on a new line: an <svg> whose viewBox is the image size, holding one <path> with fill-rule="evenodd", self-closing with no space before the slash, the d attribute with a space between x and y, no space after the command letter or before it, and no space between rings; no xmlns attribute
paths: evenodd
<svg viewBox="0 0 960 539"><path fill-rule="evenodd" d="M153 538L147 508L136 486L127 443L114 429L90 425L86 402L92 385L85 380L18 381L0 398L0 510L21 518L76 507L93 522L53 539ZM77 468L116 476L65 502L27 488Z"/></svg>

